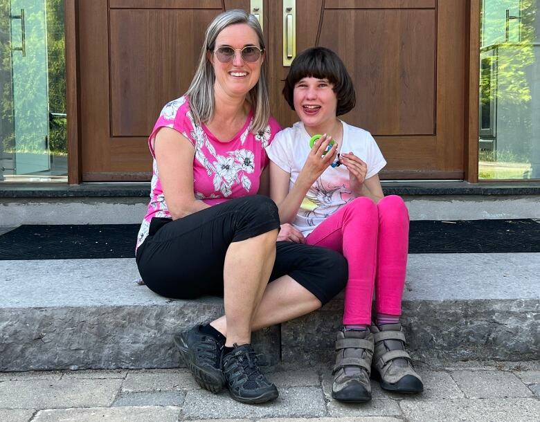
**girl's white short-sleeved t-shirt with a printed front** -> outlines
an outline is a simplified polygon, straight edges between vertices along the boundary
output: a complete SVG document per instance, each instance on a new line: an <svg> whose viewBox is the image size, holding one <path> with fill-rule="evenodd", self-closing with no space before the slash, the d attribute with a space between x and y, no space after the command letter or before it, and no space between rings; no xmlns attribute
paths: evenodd
<svg viewBox="0 0 540 422"><path fill-rule="evenodd" d="M366 179L375 176L386 165L375 139L368 131L350 126L343 121L341 123L343 143L339 152L352 152L361 158L368 165ZM296 182L309 154L309 139L311 136L305 130L303 122L296 122L293 127L278 132L271 145L267 147L269 158L291 175L289 190ZM350 190L347 167L343 164L339 167L328 167L309 188L292 224L307 236L326 217L355 197Z"/></svg>

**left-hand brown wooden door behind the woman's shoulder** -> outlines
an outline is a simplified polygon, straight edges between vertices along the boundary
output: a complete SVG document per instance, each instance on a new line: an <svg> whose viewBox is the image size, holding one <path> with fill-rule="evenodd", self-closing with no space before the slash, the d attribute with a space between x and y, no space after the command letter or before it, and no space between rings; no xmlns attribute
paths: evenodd
<svg viewBox="0 0 540 422"><path fill-rule="evenodd" d="M150 180L147 136L188 89L204 28L224 6L249 10L249 0L79 3L83 181Z"/></svg>

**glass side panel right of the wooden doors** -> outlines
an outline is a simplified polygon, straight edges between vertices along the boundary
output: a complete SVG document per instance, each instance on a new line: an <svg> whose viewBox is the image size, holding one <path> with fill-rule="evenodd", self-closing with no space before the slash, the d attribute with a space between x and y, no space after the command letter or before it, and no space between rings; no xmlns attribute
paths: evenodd
<svg viewBox="0 0 540 422"><path fill-rule="evenodd" d="M540 178L540 15L537 0L483 0L480 179Z"/></svg>

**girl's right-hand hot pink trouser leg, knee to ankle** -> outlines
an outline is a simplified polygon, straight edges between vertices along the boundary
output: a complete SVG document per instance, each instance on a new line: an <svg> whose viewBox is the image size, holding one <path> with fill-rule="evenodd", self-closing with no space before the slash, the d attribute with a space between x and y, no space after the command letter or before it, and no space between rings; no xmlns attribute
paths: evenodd
<svg viewBox="0 0 540 422"><path fill-rule="evenodd" d="M377 203L377 208L379 241L375 309L377 315L399 316L407 268L408 211L404 201L396 195L385 196Z"/></svg>

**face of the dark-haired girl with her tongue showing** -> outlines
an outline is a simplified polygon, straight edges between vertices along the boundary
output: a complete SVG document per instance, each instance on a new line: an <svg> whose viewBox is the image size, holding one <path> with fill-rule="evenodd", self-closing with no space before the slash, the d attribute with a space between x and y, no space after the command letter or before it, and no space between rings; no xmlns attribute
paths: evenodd
<svg viewBox="0 0 540 422"><path fill-rule="evenodd" d="M306 127L332 128L336 121L337 97L327 79L303 77L294 86L294 109ZM330 130L330 129L327 129Z"/></svg>

